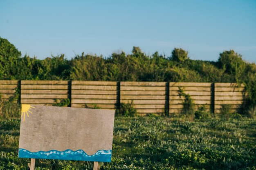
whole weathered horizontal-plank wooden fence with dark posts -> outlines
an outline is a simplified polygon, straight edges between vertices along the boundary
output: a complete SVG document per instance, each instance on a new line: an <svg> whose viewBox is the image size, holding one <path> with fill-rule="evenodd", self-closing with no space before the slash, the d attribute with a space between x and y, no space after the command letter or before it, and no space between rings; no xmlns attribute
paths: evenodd
<svg viewBox="0 0 256 170"><path fill-rule="evenodd" d="M213 113L220 113L222 104L240 112L245 99L243 84L234 83L0 80L2 98L15 91L20 92L21 104L52 105L56 100L70 99L71 107L117 109L120 103L132 102L141 115L180 113L184 97L179 91Z"/></svg>

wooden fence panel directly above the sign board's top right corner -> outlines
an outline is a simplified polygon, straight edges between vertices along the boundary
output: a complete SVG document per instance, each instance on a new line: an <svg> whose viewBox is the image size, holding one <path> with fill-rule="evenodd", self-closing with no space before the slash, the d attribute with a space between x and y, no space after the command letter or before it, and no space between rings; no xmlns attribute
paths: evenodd
<svg viewBox="0 0 256 170"><path fill-rule="evenodd" d="M115 109L118 100L117 82L72 81L71 106Z"/></svg>

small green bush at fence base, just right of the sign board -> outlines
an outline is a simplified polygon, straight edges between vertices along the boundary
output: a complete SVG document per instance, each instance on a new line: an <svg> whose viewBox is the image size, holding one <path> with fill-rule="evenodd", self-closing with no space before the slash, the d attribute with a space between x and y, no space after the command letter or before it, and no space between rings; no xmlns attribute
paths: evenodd
<svg viewBox="0 0 256 170"><path fill-rule="evenodd" d="M117 109L117 115L123 115L125 117L133 117L136 113L137 110L133 108L133 102L128 102L128 103L121 103L120 108Z"/></svg>

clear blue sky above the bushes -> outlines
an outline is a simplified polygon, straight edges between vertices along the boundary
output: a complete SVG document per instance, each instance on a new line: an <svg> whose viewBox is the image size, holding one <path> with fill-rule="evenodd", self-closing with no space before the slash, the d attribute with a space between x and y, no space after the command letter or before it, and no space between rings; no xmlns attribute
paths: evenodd
<svg viewBox="0 0 256 170"><path fill-rule="evenodd" d="M218 60L234 49L256 62L256 0L0 0L0 37L22 55L171 55Z"/></svg>

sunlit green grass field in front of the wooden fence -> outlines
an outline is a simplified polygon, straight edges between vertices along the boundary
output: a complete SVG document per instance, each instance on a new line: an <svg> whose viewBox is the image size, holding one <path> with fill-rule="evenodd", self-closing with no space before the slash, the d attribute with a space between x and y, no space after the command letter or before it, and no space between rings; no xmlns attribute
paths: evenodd
<svg viewBox="0 0 256 170"><path fill-rule="evenodd" d="M0 119L0 170L27 170L18 158L19 119ZM111 163L101 170L255 170L256 120L115 118ZM36 160L37 170L90 170L85 161Z"/></svg>

